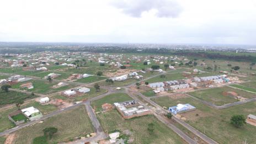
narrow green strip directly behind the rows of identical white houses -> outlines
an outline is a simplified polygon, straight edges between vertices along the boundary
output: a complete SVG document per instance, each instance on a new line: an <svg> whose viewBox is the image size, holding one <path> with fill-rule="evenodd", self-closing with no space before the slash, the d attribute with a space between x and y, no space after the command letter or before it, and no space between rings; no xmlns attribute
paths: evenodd
<svg viewBox="0 0 256 144"><path fill-rule="evenodd" d="M185 77L182 76L182 73L167 73L163 74L166 77L161 78L161 76L153 77L147 80L149 83L154 83L154 82L164 82L164 81L172 81L176 79L184 79Z"/></svg>

